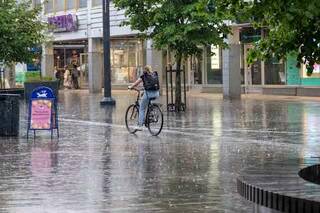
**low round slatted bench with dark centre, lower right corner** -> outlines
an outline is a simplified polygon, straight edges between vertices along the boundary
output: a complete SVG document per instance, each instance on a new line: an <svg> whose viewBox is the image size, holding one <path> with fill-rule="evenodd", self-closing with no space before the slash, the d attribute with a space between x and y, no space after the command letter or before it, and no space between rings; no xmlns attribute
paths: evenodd
<svg viewBox="0 0 320 213"><path fill-rule="evenodd" d="M299 176L302 169L318 163L311 158L247 168L237 179L237 190L247 200L280 212L319 213L320 185Z"/></svg>

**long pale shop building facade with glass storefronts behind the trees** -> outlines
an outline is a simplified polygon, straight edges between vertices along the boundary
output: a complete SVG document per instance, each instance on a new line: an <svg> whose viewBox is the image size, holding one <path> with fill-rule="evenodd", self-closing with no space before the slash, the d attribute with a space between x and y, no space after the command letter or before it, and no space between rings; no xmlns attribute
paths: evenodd
<svg viewBox="0 0 320 213"><path fill-rule="evenodd" d="M103 24L102 0L35 0L44 3L43 19L55 26L52 42L43 45L41 69L43 75L53 76L53 70L77 63L81 70L80 87L100 92L103 83ZM161 73L164 83L167 64L174 64L173 54L152 48L152 41L142 41L138 32L120 26L125 20L124 11L110 5L111 77L113 88L125 87L135 81L141 68L149 64ZM253 43L264 35L248 24L233 27L240 45L241 83L245 91L272 85L320 85L320 72L305 77L303 68L291 66L287 61L274 59L246 62ZM210 54L214 53L214 54ZM201 56L192 56L184 62L188 88L207 92L220 92L223 82L223 50L209 46ZM319 75L319 76L318 76ZM299 80L297 80L299 79ZM297 83L299 81L299 84Z"/></svg>

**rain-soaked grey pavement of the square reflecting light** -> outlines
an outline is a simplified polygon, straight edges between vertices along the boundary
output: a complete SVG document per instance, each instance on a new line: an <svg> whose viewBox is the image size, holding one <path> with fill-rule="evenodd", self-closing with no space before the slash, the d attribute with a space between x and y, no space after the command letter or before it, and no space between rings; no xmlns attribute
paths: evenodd
<svg viewBox="0 0 320 213"><path fill-rule="evenodd" d="M112 108L62 92L59 140L27 141L22 105L20 138L0 138L0 212L253 212L236 192L241 170L320 153L319 99L189 95L152 137L127 133L134 95L115 92Z"/></svg>

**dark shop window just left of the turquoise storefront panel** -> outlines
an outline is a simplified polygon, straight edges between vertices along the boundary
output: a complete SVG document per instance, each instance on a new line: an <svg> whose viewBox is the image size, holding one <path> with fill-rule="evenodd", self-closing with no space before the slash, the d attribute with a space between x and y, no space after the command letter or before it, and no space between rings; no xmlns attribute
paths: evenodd
<svg viewBox="0 0 320 213"><path fill-rule="evenodd" d="M269 59L264 63L265 84L285 84L285 66L282 60Z"/></svg>

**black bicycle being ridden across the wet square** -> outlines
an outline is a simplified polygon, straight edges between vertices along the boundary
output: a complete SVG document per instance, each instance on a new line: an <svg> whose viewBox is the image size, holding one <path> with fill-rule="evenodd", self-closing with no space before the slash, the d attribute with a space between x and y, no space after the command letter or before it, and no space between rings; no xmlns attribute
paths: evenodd
<svg viewBox="0 0 320 213"><path fill-rule="evenodd" d="M132 88L132 90L135 90L137 92L137 99L134 104L131 104L126 111L126 127L127 130L134 134L138 130L133 128L133 126L138 124L139 119L139 99L141 95L141 91L135 88ZM156 103L153 103L156 98L150 98L148 105L147 105L147 113L145 116L145 122L144 125L148 128L149 132L152 136L157 136L160 134L162 127L163 127L163 114L160 109L160 106Z"/></svg>

